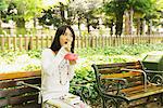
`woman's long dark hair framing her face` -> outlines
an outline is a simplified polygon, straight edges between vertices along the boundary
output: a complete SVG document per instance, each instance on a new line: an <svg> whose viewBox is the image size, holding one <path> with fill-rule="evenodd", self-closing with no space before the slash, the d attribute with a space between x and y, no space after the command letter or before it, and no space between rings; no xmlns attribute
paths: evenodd
<svg viewBox="0 0 163 108"><path fill-rule="evenodd" d="M75 32L72 29L71 26L64 25L58 28L57 32L55 32L55 37L53 39L53 42L50 46L50 49L55 52L59 51L61 49L61 44L60 44L60 36L65 33L66 28L68 28L73 35L73 42L72 42L72 48L71 48L71 52L74 53L74 45L75 45Z"/></svg>

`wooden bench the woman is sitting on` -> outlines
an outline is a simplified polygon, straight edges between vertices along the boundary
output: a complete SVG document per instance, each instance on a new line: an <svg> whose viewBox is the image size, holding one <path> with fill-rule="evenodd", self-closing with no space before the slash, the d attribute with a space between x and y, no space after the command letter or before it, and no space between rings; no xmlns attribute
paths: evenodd
<svg viewBox="0 0 163 108"><path fill-rule="evenodd" d="M41 100L38 104L40 96L41 72L25 71L0 73L0 108L41 108ZM79 95L84 102L90 96L91 91L87 83L71 84L73 91ZM41 97L40 97L41 98Z"/></svg>

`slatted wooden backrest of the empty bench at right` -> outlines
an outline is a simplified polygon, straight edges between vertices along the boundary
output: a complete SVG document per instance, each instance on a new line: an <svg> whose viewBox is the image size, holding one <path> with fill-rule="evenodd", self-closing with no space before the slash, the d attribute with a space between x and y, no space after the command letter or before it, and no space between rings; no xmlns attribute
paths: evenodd
<svg viewBox="0 0 163 108"><path fill-rule="evenodd" d="M99 91L103 90L115 91L116 90L115 87L117 86L126 89L143 84L143 75L141 72L123 70L123 69L142 70L142 65L140 62L101 64L101 65L93 64L92 68L96 73L96 81ZM123 81L115 79L126 79L128 83L126 85ZM117 83L118 85L115 85Z"/></svg>

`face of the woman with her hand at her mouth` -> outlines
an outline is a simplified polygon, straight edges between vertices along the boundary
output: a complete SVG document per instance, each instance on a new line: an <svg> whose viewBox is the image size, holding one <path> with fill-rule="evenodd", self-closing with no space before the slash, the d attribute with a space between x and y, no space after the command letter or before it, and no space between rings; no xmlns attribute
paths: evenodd
<svg viewBox="0 0 163 108"><path fill-rule="evenodd" d="M60 37L60 44L63 46L64 44L71 43L73 41L73 35L68 28L66 28L65 33Z"/></svg>

